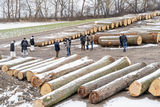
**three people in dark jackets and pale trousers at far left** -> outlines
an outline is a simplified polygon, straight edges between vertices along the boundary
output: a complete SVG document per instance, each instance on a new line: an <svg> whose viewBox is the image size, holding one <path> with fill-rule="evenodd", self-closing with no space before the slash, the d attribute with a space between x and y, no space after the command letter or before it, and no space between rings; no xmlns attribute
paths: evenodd
<svg viewBox="0 0 160 107"><path fill-rule="evenodd" d="M26 40L26 38L23 38L23 40L21 41L21 53L23 57L28 56L28 41ZM30 51L33 52L34 51L34 36L32 36L30 38ZM13 40L10 44L10 56L11 57L16 57L16 51L15 51L15 40Z"/></svg>

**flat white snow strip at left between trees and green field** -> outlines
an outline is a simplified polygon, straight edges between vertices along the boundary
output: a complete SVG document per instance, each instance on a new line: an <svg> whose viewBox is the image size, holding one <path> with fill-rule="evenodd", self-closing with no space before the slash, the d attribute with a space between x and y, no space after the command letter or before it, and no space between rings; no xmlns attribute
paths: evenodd
<svg viewBox="0 0 160 107"><path fill-rule="evenodd" d="M39 26L39 25L48 25L48 24L57 24L57 23L65 23L65 21L57 21L57 22L12 22L12 23L7 22L7 23L0 23L0 30L21 28L21 27L30 27L30 26Z"/></svg>

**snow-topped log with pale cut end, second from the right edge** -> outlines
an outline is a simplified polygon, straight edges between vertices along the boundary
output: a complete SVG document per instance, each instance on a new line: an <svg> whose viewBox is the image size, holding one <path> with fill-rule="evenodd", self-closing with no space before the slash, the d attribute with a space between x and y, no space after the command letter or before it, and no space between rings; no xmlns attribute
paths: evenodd
<svg viewBox="0 0 160 107"><path fill-rule="evenodd" d="M129 86L129 93L131 96L137 97L142 95L150 86L152 81L160 76L160 69L157 71L140 78L136 81L134 81L130 86Z"/></svg>

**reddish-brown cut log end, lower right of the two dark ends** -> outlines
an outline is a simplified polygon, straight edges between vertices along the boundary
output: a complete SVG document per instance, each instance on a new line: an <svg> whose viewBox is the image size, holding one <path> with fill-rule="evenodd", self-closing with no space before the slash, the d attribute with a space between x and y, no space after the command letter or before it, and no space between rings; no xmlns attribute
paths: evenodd
<svg viewBox="0 0 160 107"><path fill-rule="evenodd" d="M92 103L92 104L96 104L96 103L98 103L98 101L99 101L99 95L98 95L98 93L97 92L91 92L90 94L89 94L89 101Z"/></svg>

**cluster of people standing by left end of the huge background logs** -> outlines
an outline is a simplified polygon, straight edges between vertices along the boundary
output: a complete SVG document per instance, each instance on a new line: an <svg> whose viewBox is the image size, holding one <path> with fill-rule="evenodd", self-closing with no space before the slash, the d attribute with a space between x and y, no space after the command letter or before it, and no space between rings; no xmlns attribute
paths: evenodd
<svg viewBox="0 0 160 107"><path fill-rule="evenodd" d="M93 35L81 36L80 41L81 41L81 50L85 50L85 45L86 49L88 50L89 44L91 45L91 50L93 50Z"/></svg>

